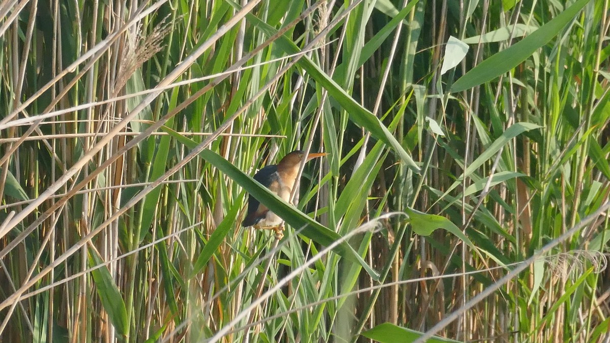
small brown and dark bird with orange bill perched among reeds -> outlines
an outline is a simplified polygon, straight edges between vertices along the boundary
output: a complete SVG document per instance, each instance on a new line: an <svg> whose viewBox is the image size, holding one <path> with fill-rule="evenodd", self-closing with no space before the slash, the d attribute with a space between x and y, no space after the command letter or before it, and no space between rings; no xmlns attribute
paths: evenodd
<svg viewBox="0 0 610 343"><path fill-rule="evenodd" d="M267 165L267 167L259 170L254 175L254 179L284 201L290 202L290 195L295 186L301 162L322 156L326 156L326 153L307 154L303 150L292 151L292 153L284 156L277 165ZM270 211L267 206L261 204L252 194L249 195L248 212L242 222L243 227L254 226L256 229L272 229L275 231L276 239L282 239L284 237L282 222L282 218Z"/></svg>

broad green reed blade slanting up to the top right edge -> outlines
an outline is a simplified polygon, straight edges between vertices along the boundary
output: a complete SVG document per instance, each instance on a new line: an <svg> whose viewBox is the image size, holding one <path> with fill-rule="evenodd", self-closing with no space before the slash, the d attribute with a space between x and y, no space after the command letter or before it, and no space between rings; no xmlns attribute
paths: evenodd
<svg viewBox="0 0 610 343"><path fill-rule="evenodd" d="M451 85L450 92L462 92L472 87L476 87L485 82L492 81L501 74L506 73L512 68L517 67L519 63L526 60L537 49L551 41L553 37L559 34L565 24L569 23L572 18L583 9L584 5L590 0L578 0L570 7L559 13L548 23L540 26L539 29L532 32L528 37L523 38L519 42L510 46L503 51L493 54L489 59L479 63L475 68L472 68L461 78Z"/></svg>

